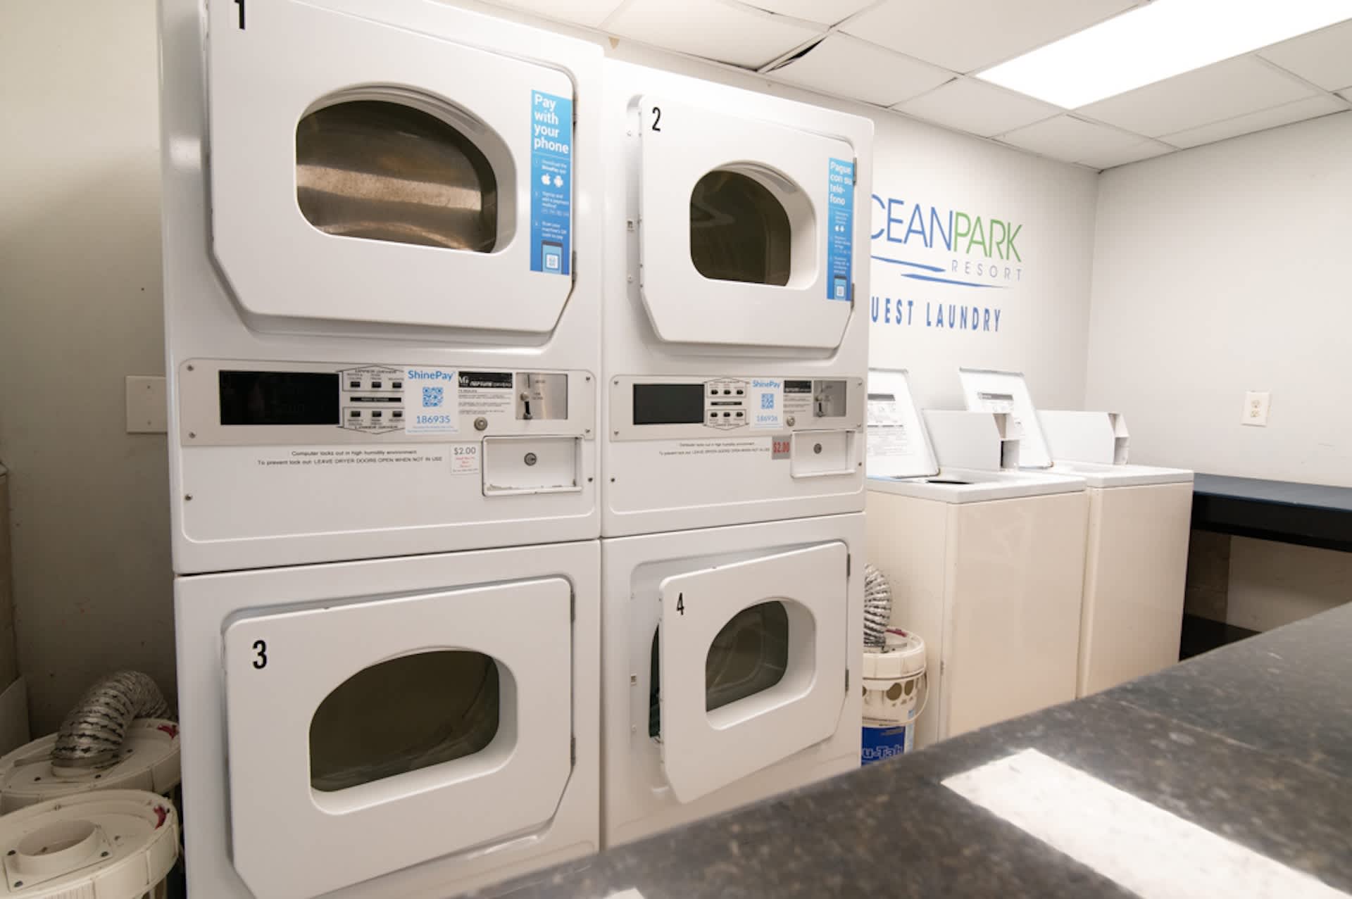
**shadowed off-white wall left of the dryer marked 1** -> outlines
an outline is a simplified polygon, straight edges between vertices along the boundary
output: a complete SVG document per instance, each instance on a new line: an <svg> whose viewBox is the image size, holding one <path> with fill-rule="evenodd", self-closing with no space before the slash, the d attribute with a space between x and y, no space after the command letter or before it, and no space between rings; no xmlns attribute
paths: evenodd
<svg viewBox="0 0 1352 899"><path fill-rule="evenodd" d="M88 683L173 688L168 472L123 376L164 372L154 0L0 3L0 458L34 733Z"/></svg>

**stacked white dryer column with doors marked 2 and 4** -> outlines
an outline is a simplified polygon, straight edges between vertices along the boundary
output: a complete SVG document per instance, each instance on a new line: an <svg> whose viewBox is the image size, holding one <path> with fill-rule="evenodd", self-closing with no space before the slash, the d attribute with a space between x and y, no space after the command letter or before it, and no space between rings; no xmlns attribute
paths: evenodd
<svg viewBox="0 0 1352 899"><path fill-rule="evenodd" d="M603 841L859 765L872 123L606 64Z"/></svg>

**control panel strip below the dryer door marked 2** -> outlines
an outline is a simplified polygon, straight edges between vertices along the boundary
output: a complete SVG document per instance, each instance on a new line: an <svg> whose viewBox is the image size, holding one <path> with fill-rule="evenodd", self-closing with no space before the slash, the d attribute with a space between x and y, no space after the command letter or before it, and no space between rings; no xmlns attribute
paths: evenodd
<svg viewBox="0 0 1352 899"><path fill-rule="evenodd" d="M794 430L857 430L863 379L617 377L611 439L679 439Z"/></svg>

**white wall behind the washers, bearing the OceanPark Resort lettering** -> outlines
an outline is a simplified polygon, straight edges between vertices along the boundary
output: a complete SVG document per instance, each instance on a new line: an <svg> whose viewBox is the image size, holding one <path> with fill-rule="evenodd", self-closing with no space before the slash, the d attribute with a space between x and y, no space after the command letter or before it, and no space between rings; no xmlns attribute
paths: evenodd
<svg viewBox="0 0 1352 899"><path fill-rule="evenodd" d="M869 364L909 369L922 408L963 408L959 368L1021 370L1042 408L1080 408L1098 176L894 115L879 115L876 123L873 193L884 205L877 200L869 204L871 233L877 234L872 245L871 292L877 307L869 330ZM888 204L899 223L888 223ZM917 207L926 234L913 231L907 238L911 224L919 226L911 218ZM983 233L991 218L1009 222L998 233L1017 228L1017 257L1006 249L1010 258L1002 260L991 247L987 258L971 239L952 241L959 226L946 233L930 227L934 212L941 223L950 212L965 212L973 222L980 216ZM907 239L903 243L899 238ZM944 246L945 238L953 242L952 249ZM995 278L990 277L992 264ZM992 287L909 277L914 274ZM903 301L900 319L898 301ZM980 310L980 327L973 330L968 315L965 330L960 316L959 330L949 329L950 306ZM940 311L944 327L937 326Z"/></svg>

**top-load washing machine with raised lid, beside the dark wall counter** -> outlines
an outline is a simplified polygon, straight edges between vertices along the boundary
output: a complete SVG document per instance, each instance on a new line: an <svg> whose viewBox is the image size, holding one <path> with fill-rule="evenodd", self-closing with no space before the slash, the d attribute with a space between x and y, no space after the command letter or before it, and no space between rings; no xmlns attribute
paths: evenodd
<svg viewBox="0 0 1352 899"><path fill-rule="evenodd" d="M969 408L1007 410L1023 423L1021 464L1088 485L1079 695L1178 662L1192 472L1126 464L1121 415L1038 412L1018 372L963 369L961 379Z"/></svg>

